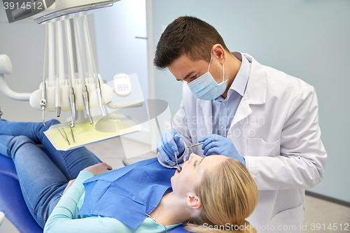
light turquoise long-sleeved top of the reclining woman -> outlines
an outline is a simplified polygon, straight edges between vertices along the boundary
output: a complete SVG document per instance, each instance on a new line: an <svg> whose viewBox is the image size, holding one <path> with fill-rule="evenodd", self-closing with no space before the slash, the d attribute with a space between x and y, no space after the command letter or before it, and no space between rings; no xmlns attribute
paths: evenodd
<svg viewBox="0 0 350 233"><path fill-rule="evenodd" d="M44 233L94 233L132 232L119 220L108 217L88 217L74 219L77 204L85 192L83 182L93 175L90 171L80 171L76 181L64 193L45 224Z"/></svg>

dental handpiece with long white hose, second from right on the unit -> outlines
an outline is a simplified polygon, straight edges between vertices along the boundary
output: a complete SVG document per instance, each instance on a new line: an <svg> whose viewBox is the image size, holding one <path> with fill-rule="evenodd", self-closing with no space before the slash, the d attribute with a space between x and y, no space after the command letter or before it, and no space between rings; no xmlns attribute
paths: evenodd
<svg viewBox="0 0 350 233"><path fill-rule="evenodd" d="M77 50L77 59L78 59L78 72L81 76L80 78L83 79L83 100L85 104L85 114L87 118L90 120L90 125L92 125L94 122L92 121L91 114L90 114L90 104L89 104L89 92L87 92L87 86L85 84L85 71L84 71L84 64L83 64L83 54L81 52L81 45L80 45L80 32L79 32L79 24L78 24L78 18L73 19L74 22L74 34L76 38L76 50Z"/></svg>

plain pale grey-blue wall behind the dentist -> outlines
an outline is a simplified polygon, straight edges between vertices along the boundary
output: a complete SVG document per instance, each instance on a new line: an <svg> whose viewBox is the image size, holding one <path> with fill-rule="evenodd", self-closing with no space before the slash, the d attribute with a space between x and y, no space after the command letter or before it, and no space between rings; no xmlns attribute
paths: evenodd
<svg viewBox="0 0 350 233"><path fill-rule="evenodd" d="M349 12L346 0L153 0L154 43L176 17L196 16L216 27L230 50L313 85L328 160L323 181L310 191L350 202ZM181 83L169 71L156 70L155 90L174 115Z"/></svg>

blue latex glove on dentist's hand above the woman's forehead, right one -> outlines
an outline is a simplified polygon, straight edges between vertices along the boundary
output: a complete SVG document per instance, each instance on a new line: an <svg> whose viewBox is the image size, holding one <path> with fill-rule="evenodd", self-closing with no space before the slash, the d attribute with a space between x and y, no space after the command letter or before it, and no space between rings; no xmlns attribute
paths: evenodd
<svg viewBox="0 0 350 233"><path fill-rule="evenodd" d="M202 145L202 150L204 150L203 154L205 156L208 155L225 155L227 157L232 157L232 159L238 160L244 166L246 166L246 160L244 157L239 155L235 145L233 145L231 139L228 139L224 136L220 136L218 134L211 134L202 137L202 139L198 140L199 143L204 141Z"/></svg>

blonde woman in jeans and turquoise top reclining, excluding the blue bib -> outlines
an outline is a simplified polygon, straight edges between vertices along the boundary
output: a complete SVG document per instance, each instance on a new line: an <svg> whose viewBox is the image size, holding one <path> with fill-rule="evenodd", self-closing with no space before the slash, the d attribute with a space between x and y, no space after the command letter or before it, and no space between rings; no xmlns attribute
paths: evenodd
<svg viewBox="0 0 350 233"><path fill-rule="evenodd" d="M190 232L256 232L245 220L258 204L253 178L243 164L221 155L191 155L172 176L172 191L136 229L116 218L76 215L86 202L83 182L112 168L86 148L55 150L43 131L57 123L0 120L0 154L13 159L27 207L44 232L169 232L179 223Z"/></svg>

